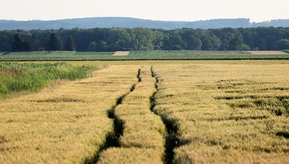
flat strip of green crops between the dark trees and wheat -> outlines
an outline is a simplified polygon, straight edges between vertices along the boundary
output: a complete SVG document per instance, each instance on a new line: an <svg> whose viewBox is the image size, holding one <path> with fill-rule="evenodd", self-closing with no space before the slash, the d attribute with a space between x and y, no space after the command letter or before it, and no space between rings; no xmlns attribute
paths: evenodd
<svg viewBox="0 0 289 164"><path fill-rule="evenodd" d="M150 50L132 51L127 56L113 52L39 51L0 53L0 61L118 61L118 60L288 60L286 50L280 54L254 55L248 51ZM281 51L282 52L282 51Z"/></svg>

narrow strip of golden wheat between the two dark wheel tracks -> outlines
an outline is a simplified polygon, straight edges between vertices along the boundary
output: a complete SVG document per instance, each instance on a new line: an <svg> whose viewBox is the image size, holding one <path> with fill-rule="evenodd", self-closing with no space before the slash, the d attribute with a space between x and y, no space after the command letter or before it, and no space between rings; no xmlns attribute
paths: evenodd
<svg viewBox="0 0 289 164"><path fill-rule="evenodd" d="M160 116L150 111L155 82L150 67L141 67L139 83L115 108L124 124L120 148L102 152L99 163L162 163L165 127Z"/></svg>

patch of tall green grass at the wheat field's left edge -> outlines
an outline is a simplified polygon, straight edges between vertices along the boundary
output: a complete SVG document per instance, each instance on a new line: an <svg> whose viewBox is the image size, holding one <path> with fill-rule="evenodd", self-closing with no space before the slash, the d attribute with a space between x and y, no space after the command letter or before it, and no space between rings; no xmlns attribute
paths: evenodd
<svg viewBox="0 0 289 164"><path fill-rule="evenodd" d="M86 78L92 67L72 67L65 62L23 63L0 62L0 99L17 93L29 93L57 79L76 80Z"/></svg>

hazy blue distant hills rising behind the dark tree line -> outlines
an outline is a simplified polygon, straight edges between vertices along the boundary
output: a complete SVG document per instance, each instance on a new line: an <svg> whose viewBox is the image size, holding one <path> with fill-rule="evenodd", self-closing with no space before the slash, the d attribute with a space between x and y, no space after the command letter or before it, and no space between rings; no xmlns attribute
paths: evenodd
<svg viewBox="0 0 289 164"><path fill-rule="evenodd" d="M148 27L151 29L181 29L200 28L200 29L216 29L224 27L289 27L289 20L270 20L266 22L250 22L250 19L216 19L216 20L199 20L195 22L185 21L160 21L160 20L143 20L138 18L75 18L66 20L0 20L0 30L4 29L90 29L96 27Z"/></svg>

